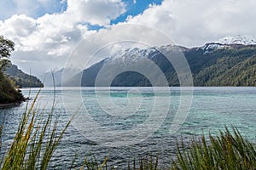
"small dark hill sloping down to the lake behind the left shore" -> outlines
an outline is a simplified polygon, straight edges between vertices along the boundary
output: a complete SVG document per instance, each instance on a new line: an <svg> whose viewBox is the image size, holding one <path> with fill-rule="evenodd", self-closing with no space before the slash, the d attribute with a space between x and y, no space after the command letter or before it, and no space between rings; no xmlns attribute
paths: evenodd
<svg viewBox="0 0 256 170"><path fill-rule="evenodd" d="M17 65L11 65L4 73L15 82L19 88L41 88L44 84L38 79L18 69Z"/></svg>

